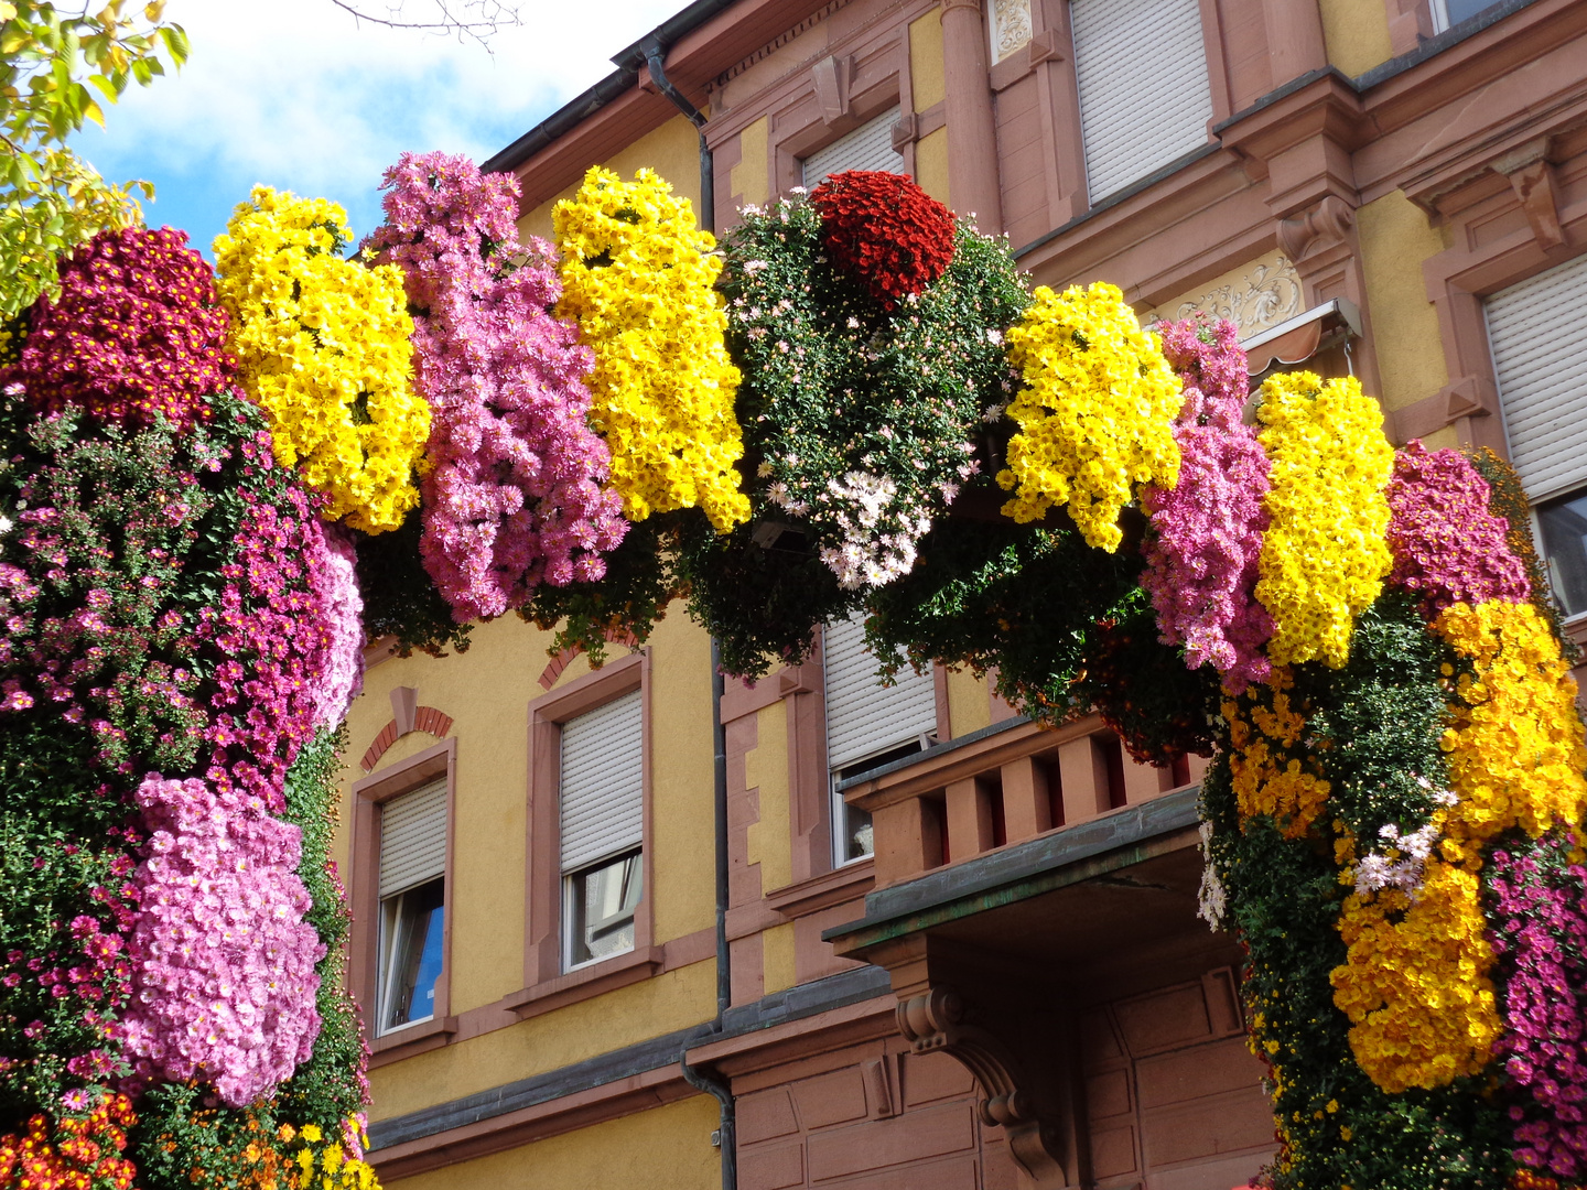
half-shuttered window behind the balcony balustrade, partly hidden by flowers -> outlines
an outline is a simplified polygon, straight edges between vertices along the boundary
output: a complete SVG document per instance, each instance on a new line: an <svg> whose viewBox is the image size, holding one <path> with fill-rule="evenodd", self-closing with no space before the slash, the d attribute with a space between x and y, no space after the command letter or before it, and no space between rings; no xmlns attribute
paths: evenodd
<svg viewBox="0 0 1587 1190"><path fill-rule="evenodd" d="M827 770L832 776L833 862L870 855L871 816L849 806L838 782L919 752L936 731L936 681L908 665L897 685L878 678L876 654L865 647L865 620L827 625L822 635L827 687Z"/></svg>

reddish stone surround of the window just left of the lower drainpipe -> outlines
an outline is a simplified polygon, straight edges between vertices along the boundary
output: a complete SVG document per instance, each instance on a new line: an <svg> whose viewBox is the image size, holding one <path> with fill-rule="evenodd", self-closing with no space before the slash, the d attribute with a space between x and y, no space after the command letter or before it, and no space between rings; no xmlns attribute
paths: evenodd
<svg viewBox="0 0 1587 1190"><path fill-rule="evenodd" d="M562 969L563 912L559 847L562 725L614 698L641 692L644 843L643 890L633 914L633 949L573 971ZM665 954L654 942L655 865L652 835L651 651L640 649L541 695L528 704L528 841L524 873L524 988L501 1008L521 1020L659 973Z"/></svg>

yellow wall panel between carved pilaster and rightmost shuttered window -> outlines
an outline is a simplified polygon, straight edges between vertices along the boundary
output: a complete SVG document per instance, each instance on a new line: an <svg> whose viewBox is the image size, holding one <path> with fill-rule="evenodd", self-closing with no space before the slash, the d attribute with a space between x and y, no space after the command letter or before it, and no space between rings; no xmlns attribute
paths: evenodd
<svg viewBox="0 0 1587 1190"><path fill-rule="evenodd" d="M1449 384L1438 313L1422 279L1422 262L1447 248L1446 233L1401 190L1362 206L1355 227L1382 378L1378 395L1385 409L1403 409Z"/></svg>

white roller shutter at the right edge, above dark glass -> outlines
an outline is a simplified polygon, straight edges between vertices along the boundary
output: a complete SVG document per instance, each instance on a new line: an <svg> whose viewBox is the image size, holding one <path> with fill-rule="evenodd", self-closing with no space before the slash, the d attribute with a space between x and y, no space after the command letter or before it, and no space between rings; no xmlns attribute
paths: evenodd
<svg viewBox="0 0 1587 1190"><path fill-rule="evenodd" d="M1487 300L1509 459L1530 500L1587 484L1587 257Z"/></svg>

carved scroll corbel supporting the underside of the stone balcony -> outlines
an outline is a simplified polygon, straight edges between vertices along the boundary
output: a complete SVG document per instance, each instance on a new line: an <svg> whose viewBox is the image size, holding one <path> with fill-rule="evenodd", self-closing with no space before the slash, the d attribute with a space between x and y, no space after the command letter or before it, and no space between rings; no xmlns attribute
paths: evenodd
<svg viewBox="0 0 1587 1190"><path fill-rule="evenodd" d="M1063 1190L1057 1133L1043 1123L1036 1095L1028 1088L1014 1052L990 1030L976 1023L974 1011L951 987L936 985L898 1003L898 1031L916 1054L943 1052L955 1058L981 1084L981 1120L1001 1127L1009 1152L1032 1190ZM1024 1085L1022 1085L1024 1084Z"/></svg>

